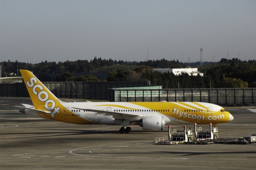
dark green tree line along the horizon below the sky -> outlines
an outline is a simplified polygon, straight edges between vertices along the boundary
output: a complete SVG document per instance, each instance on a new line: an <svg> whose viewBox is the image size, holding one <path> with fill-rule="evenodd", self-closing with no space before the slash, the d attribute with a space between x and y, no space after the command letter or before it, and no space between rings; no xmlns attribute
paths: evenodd
<svg viewBox="0 0 256 170"><path fill-rule="evenodd" d="M2 76L11 76L17 69L26 69L34 74L58 74L55 81L150 81L152 85L163 88L243 88L256 87L256 60L221 59L219 62L182 63L178 60L148 60L130 62L123 60L106 60L94 57L93 60L65 62L1 62ZM185 68L196 67L204 76L189 76L172 73L160 73L152 68ZM76 73L106 72L106 80L93 75L74 76ZM40 77L41 78L41 77ZM42 77L44 79L44 77ZM45 77L47 79L47 77ZM44 80L47 81L47 80Z"/></svg>

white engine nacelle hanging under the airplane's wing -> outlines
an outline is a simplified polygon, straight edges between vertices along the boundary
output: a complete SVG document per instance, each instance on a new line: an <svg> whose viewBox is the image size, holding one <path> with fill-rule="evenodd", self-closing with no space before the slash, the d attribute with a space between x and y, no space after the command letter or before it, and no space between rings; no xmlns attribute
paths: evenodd
<svg viewBox="0 0 256 170"><path fill-rule="evenodd" d="M140 122L144 130L164 130L164 117L162 116L145 116Z"/></svg>

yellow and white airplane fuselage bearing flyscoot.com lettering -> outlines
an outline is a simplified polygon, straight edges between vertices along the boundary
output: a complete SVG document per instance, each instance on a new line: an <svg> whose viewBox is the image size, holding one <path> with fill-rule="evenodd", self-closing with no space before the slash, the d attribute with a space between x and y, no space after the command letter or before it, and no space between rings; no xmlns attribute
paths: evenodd
<svg viewBox="0 0 256 170"><path fill-rule="evenodd" d="M122 118L114 119L102 113L77 108L140 115L129 118L130 122L138 122L143 116L163 116L166 124L218 124L230 121L230 113L224 108L204 102L66 102L62 105L64 107L59 113L63 115L61 117L52 118L49 114L39 114L44 118L74 124L122 124Z"/></svg>

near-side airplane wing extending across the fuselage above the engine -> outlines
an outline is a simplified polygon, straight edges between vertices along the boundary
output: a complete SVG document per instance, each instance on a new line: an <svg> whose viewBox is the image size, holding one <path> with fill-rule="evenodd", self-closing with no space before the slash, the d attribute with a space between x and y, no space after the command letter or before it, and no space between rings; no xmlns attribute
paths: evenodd
<svg viewBox="0 0 256 170"><path fill-rule="evenodd" d="M86 110L88 112L96 112L99 114L105 114L106 116L113 116L114 118L145 116L145 115L136 114L136 113L120 113L120 112L112 112L112 111L106 111L106 110L94 110L94 109L84 109L84 108L75 108L75 109Z"/></svg>

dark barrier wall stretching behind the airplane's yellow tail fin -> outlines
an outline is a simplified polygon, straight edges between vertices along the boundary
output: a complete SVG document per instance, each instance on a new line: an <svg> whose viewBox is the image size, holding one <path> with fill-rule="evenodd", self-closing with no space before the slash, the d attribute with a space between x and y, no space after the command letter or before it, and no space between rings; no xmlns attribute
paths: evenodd
<svg viewBox="0 0 256 170"><path fill-rule="evenodd" d="M148 82L42 82L58 98L108 100L110 88L141 87ZM0 84L0 97L29 97L24 83Z"/></svg>

